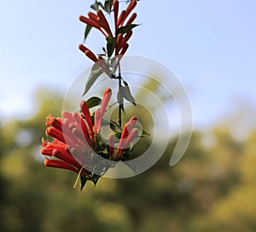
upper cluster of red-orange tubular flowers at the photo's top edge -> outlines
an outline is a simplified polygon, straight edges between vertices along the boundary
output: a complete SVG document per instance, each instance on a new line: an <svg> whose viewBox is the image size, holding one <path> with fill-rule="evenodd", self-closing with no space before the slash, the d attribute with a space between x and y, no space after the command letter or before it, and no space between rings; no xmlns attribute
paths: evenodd
<svg viewBox="0 0 256 232"><path fill-rule="evenodd" d="M114 31L111 30L108 20L102 12L102 9L98 8L96 14L89 12L88 16L81 15L79 20L84 22L90 28L96 28L101 31L103 36L107 40L106 55L110 58L114 52L115 56L122 57L129 48L128 41L132 35L132 29L137 26L132 24L137 18L137 14L131 14L131 11L136 7L137 0L131 0L127 8L119 13L119 1L113 0L113 20L114 20ZM86 34L86 33L85 33ZM86 37L84 37L86 38ZM102 55L96 56L89 48L83 44L79 44L79 49L93 62L102 60Z"/></svg>

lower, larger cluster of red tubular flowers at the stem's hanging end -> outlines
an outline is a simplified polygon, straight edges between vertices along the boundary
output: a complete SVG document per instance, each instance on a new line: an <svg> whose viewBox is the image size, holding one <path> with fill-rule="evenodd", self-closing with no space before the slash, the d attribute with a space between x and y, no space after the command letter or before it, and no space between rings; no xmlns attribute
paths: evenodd
<svg viewBox="0 0 256 232"><path fill-rule="evenodd" d="M127 159L130 154L130 144L137 138L138 130L135 128L137 116L132 116L125 123L120 133L119 141L113 133L108 139L101 136L102 121L108 108L112 90L107 88L104 92L100 109L90 115L89 105L82 100L80 111L62 111L61 117L49 114L46 120L45 134L51 139L42 139L41 153L45 156L46 167L68 169L78 174L81 181L81 190L87 180L96 184L98 178L113 167L113 161ZM96 156L102 156L104 162L100 163ZM101 170L99 174L91 170Z"/></svg>

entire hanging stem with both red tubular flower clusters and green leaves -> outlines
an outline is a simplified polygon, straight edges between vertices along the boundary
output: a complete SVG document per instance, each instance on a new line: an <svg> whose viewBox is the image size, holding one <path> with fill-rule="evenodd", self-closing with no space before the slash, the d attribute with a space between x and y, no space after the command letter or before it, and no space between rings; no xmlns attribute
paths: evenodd
<svg viewBox="0 0 256 232"><path fill-rule="evenodd" d="M84 39L91 28L96 28L102 32L107 41L106 48L103 48L104 54L98 55L83 44L79 45L79 49L94 62L84 94L102 73L117 79L119 91L116 103L119 105L119 121L114 122L103 118L112 97L110 88L105 90L102 99L92 97L87 101L82 100L79 111L62 111L62 117L49 114L46 120L45 134L48 139L42 139L41 150L42 155L45 156L44 165L77 173L81 190L88 180L96 184L98 179L108 172L110 167L114 167L117 161L133 159L132 142L142 136L137 129L137 116L132 116L128 122L123 123L124 125L121 118L122 111L125 111L124 99L136 105L128 83L121 76L120 69L121 56L129 47L128 41L131 38L132 29L137 26L132 24L137 14L131 14L137 1L129 2L127 8L119 13L118 0L106 0L104 4L96 1L91 6L96 13L89 12L87 17L79 18L86 24ZM108 14L113 13L114 30L111 30L102 10ZM119 68L118 75L116 75L117 68ZM92 112L93 107L96 107L96 110ZM102 127L106 126L110 128L107 139L102 136Z"/></svg>

